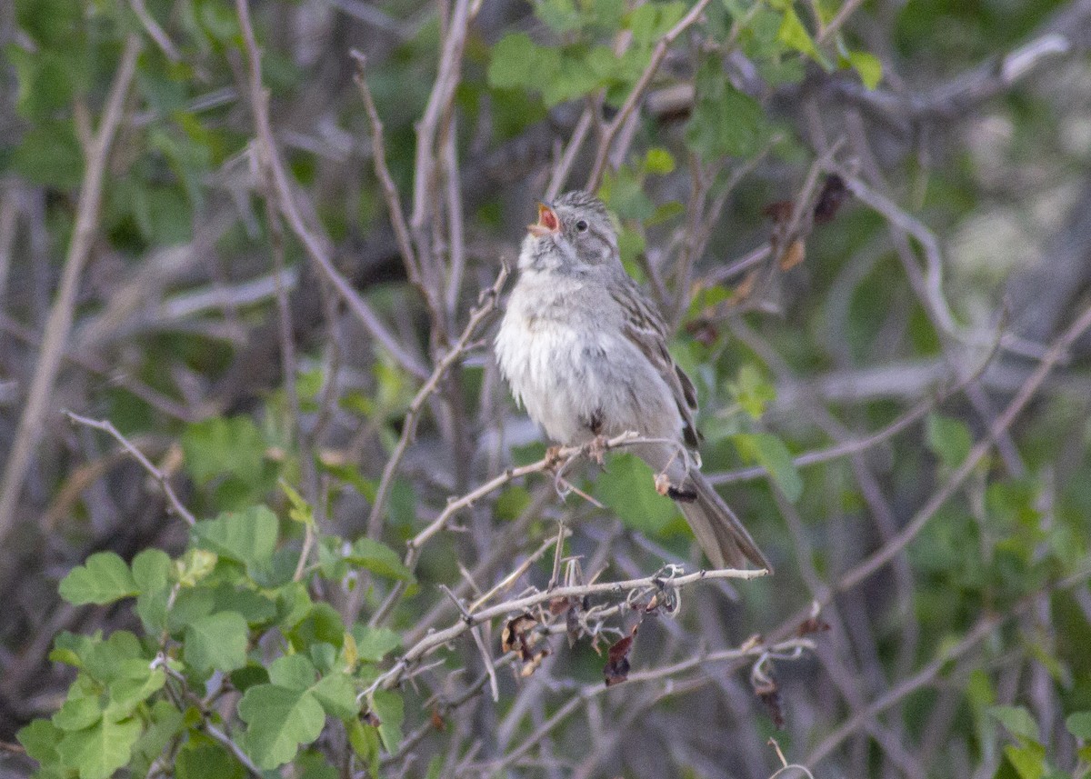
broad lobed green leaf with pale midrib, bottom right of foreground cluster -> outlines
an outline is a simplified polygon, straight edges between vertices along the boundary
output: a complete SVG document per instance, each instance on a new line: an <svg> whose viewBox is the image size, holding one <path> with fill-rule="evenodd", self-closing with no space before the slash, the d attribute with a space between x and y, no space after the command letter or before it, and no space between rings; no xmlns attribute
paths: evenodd
<svg viewBox="0 0 1091 779"><path fill-rule="evenodd" d="M313 695L275 684L250 687L239 702L239 717L249 726L244 734L247 753L263 769L295 758L300 745L319 738L326 721Z"/></svg>

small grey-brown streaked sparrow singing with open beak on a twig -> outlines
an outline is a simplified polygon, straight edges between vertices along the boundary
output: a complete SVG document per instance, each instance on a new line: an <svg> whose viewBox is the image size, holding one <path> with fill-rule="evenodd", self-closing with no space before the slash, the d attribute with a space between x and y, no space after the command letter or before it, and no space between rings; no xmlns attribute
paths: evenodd
<svg viewBox="0 0 1091 779"><path fill-rule="evenodd" d="M700 474L697 395L667 350L667 327L625 273L600 200L568 192L538 209L496 335L500 370L530 418L564 445L634 431L633 448L679 502L717 567L772 570Z"/></svg>

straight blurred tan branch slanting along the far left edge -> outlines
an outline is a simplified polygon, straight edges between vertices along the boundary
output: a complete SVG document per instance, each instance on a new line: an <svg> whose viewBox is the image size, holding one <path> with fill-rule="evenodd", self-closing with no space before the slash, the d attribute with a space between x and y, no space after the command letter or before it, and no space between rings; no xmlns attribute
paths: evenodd
<svg viewBox="0 0 1091 779"><path fill-rule="evenodd" d="M3 480L0 482L0 544L11 532L14 524L15 507L19 505L23 480L31 466L31 456L41 435L43 423L49 410L53 386L64 357L65 344L72 329L80 277L83 275L84 265L91 255L95 233L98 230L106 166L124 115L125 98L129 96L129 87L136 71L136 56L140 53L140 48L141 43L136 35L130 35L125 39L121 62L113 76L113 84L110 86L106 108L103 111L103 121L87 148L87 165L84 169L83 183L80 185L80 205L76 211L75 227L72 230L72 242L64 260L57 299L46 322L38 362L27 388L26 407L20 417L19 428L15 430L8 462L4 465Z"/></svg>

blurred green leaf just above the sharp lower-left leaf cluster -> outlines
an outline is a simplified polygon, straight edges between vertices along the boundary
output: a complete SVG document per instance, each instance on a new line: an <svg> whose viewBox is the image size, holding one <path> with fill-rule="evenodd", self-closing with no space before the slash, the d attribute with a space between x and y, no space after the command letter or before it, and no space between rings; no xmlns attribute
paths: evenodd
<svg viewBox="0 0 1091 779"><path fill-rule="evenodd" d="M250 417L213 417L191 424L182 434L182 453L199 483L223 475L252 483L265 465L265 442Z"/></svg>

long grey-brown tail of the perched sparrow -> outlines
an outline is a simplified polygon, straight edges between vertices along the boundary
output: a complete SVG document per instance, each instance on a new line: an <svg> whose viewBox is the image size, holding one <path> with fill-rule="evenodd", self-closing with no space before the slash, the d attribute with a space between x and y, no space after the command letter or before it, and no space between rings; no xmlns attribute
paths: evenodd
<svg viewBox="0 0 1091 779"><path fill-rule="evenodd" d="M684 498L675 499L679 508L712 565L718 568L742 568L750 561L772 573L772 565L762 554L739 517L700 471L691 471L684 494Z"/></svg>

